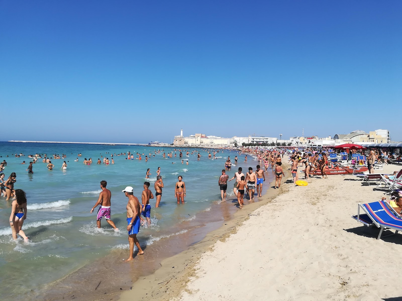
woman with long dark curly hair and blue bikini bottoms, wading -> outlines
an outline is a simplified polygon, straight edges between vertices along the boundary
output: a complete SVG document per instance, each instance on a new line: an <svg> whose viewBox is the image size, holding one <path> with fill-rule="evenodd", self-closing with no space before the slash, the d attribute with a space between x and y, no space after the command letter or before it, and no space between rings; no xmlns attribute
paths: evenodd
<svg viewBox="0 0 402 301"><path fill-rule="evenodd" d="M16 199L12 201L11 204L11 215L10 215L10 227L12 231L12 238L17 239L17 234L19 234L25 242L28 242L28 238L24 231L21 230L24 224L24 220L27 218L27 197L22 189L17 189L15 191Z"/></svg>

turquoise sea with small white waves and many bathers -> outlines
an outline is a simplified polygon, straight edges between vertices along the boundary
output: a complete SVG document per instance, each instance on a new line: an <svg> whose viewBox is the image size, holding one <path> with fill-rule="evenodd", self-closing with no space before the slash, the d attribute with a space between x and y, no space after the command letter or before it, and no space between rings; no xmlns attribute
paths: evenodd
<svg viewBox="0 0 402 301"><path fill-rule="evenodd" d="M5 159L8 163L4 170L6 178L15 172L17 181L14 188L23 189L27 193L28 212L23 230L30 239L29 243L24 243L20 237L17 242L12 240L8 223L11 202L0 197L0 295L5 299L29 300L25 293L31 290L41 291L47 283L61 279L115 250L128 254L125 209L127 198L121 191L126 186L132 186L134 195L141 200L147 168L151 169L152 175L147 181L151 183L153 192L157 167L161 167L164 181L160 207L154 208L154 200L151 200L152 224L149 228L142 227L138 235L140 243L149 246L147 252L152 249L155 241L186 232L197 214L213 215L211 206L220 203L218 177L226 158L230 156L234 162L238 153L229 150L222 153L220 150L216 155L217 159L209 160L208 152L197 149L189 157L183 152L182 159L188 160L189 165L182 165L179 151L173 151L173 155L177 153L177 157L164 159L162 153L167 154L173 149L159 149L161 153L155 155L154 150L158 151L158 148L154 146L0 142L0 159ZM102 159L101 156L111 159L110 154L127 154L128 151L134 157L137 152L144 153L142 161L126 160L127 156L114 156L114 165L96 165L97 159ZM197 161L198 152L203 156L200 161ZM23 153L25 157L16 158L12 155L16 153ZM27 156L36 153L47 154L48 157L52 154L66 154L67 158L51 159L55 165L52 171L47 170L46 164L39 159L33 165L34 174L28 174L28 164L21 163L29 163ZM74 162L78 153L82 157ZM145 162L145 155L149 153L155 157ZM92 157L92 165L84 165L82 161L89 157ZM258 164L255 159L253 161L249 157L245 165L244 155L238 157L238 166L243 167L244 171L248 166L255 170ZM64 160L68 161L66 170L61 169ZM230 178L237 168L232 165L232 171L228 172ZM177 205L174 197L178 175L182 175L186 183L187 196L184 205ZM269 179L270 175L266 176ZM102 220L102 228L96 228L97 209L90 214L100 192L101 180L107 181L107 188L112 192L111 219L120 232L114 232L105 220ZM233 185L229 184L228 203L234 202L232 188Z"/></svg>

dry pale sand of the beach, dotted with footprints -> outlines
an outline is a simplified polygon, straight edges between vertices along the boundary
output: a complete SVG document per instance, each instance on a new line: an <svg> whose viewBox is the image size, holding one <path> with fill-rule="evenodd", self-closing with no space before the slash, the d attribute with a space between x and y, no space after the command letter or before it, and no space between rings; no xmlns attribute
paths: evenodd
<svg viewBox="0 0 402 301"><path fill-rule="evenodd" d="M400 167L388 165L384 172ZM351 179L350 181L348 179ZM255 210L195 266L175 300L380 300L402 295L396 277L402 235L350 216L384 191L354 176L310 179ZM394 283L394 284L393 284Z"/></svg>

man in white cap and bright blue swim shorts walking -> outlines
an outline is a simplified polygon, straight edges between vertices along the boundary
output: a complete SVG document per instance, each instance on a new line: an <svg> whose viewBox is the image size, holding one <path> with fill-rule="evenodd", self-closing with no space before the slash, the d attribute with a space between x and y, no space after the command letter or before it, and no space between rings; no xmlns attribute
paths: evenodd
<svg viewBox="0 0 402 301"><path fill-rule="evenodd" d="M126 197L128 197L127 203L127 231L128 231L128 242L130 248L130 255L127 261L133 260L133 250L134 244L138 248L137 254L144 254L144 251L141 249L139 245L139 241L137 239L137 234L139 232L139 224L140 224L140 216L141 216L141 206L139 205L139 201L137 197L133 195L133 187L127 186L123 190Z"/></svg>

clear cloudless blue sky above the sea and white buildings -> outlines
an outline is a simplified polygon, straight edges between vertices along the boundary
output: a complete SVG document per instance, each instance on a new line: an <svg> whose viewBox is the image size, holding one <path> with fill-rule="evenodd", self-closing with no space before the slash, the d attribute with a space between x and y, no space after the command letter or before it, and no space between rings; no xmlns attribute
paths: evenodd
<svg viewBox="0 0 402 301"><path fill-rule="evenodd" d="M1 1L0 140L386 128L402 1Z"/></svg>

